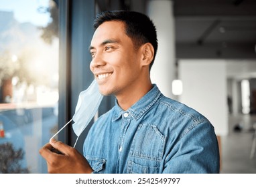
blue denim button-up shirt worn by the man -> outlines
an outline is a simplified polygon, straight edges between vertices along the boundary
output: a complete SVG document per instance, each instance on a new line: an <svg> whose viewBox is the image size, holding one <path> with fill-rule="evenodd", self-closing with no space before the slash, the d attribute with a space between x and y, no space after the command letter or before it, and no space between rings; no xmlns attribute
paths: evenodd
<svg viewBox="0 0 256 187"><path fill-rule="evenodd" d="M218 173L212 124L156 85L131 108L117 102L92 126L84 157L94 173Z"/></svg>

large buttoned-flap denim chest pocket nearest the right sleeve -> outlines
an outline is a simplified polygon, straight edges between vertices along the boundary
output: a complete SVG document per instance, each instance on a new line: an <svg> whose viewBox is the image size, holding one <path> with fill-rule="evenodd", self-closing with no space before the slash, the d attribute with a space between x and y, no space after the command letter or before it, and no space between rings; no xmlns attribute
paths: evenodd
<svg viewBox="0 0 256 187"><path fill-rule="evenodd" d="M128 173L158 173L164 154L166 136L156 126L139 124L131 144Z"/></svg>

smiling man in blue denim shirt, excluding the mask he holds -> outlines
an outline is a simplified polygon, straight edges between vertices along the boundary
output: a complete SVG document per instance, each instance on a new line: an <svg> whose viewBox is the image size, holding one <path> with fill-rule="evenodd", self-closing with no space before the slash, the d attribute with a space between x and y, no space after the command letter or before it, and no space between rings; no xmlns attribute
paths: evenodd
<svg viewBox="0 0 256 187"><path fill-rule="evenodd" d="M88 132L84 156L56 140L46 144L40 154L48 172L218 173L213 126L151 83L157 51L151 20L132 11L106 11L94 27L90 69L101 93L115 95L116 104Z"/></svg>

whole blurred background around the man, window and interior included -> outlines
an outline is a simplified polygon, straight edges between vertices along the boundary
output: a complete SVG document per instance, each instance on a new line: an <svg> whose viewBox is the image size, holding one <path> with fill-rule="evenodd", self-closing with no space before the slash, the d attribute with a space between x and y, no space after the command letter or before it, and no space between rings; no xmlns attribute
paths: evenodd
<svg viewBox="0 0 256 187"><path fill-rule="evenodd" d="M47 173L38 150L90 85L92 23L114 9L155 23L151 79L212 122L220 173L256 173L255 0L0 0L0 173ZM114 104L105 97L98 116ZM74 146L72 126L58 139Z"/></svg>

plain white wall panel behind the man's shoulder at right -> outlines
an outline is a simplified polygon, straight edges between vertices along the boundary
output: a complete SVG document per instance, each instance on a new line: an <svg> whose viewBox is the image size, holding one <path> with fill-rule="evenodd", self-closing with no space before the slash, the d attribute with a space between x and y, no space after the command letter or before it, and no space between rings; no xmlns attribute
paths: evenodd
<svg viewBox="0 0 256 187"><path fill-rule="evenodd" d="M182 59L179 77L183 81L180 102L204 115L217 136L228 134L227 73L223 60Z"/></svg>

